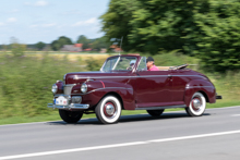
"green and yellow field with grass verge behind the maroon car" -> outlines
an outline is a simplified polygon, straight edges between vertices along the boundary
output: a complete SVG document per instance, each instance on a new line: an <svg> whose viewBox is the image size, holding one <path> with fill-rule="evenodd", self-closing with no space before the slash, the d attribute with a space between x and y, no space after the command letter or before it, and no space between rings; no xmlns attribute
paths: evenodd
<svg viewBox="0 0 240 160"><path fill-rule="evenodd" d="M57 110L47 108L52 100L51 85L62 79L68 72L97 71L109 54L77 54L40 52L12 57L0 56L0 124L60 120ZM180 53L154 57L156 65L192 64L191 69L206 74L215 84L217 93L224 97L207 108L240 104L240 72L227 74L202 71L199 60ZM146 113L145 111L123 111L122 114ZM84 115L92 118L94 114Z"/></svg>

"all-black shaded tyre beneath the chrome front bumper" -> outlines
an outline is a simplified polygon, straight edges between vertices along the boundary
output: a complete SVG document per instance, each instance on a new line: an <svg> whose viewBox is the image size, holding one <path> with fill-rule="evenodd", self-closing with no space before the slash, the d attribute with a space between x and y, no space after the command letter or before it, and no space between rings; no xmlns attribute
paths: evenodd
<svg viewBox="0 0 240 160"><path fill-rule="evenodd" d="M76 123L83 116L82 111L59 110L59 115L67 123Z"/></svg>

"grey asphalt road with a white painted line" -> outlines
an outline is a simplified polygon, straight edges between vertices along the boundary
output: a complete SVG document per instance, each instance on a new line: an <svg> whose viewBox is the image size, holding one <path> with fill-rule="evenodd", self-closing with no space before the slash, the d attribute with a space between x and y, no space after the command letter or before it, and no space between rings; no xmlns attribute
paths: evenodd
<svg viewBox="0 0 240 160"><path fill-rule="evenodd" d="M121 116L118 124L96 119L0 126L1 159L178 159L239 160L240 107Z"/></svg>

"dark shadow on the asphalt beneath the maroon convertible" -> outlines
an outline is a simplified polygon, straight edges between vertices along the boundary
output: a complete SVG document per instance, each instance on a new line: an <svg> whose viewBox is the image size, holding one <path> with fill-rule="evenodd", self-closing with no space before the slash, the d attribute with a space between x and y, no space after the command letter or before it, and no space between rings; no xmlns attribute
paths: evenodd
<svg viewBox="0 0 240 160"><path fill-rule="evenodd" d="M202 116L211 115L209 113L204 113ZM167 120L167 119L191 119L193 116L189 116L187 113L172 113L166 112L160 116L151 116L149 114L133 114L133 115L121 115L118 123L127 123L127 122L137 122L137 121L153 121L153 120ZM83 119L74 124L65 123L64 121L52 121L47 122L49 125L103 125L96 118Z"/></svg>

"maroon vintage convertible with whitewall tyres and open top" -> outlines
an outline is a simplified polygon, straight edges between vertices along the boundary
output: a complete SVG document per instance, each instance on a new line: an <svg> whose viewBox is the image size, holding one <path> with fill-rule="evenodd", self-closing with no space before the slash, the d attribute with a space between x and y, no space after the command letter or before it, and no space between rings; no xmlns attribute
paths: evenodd
<svg viewBox="0 0 240 160"><path fill-rule="evenodd" d="M104 124L118 122L122 110L146 110L159 116L165 109L184 108L191 116L204 113L206 102L221 99L211 81L187 65L146 70L146 58L115 56L100 71L68 73L52 85L53 103L67 123L96 113Z"/></svg>

